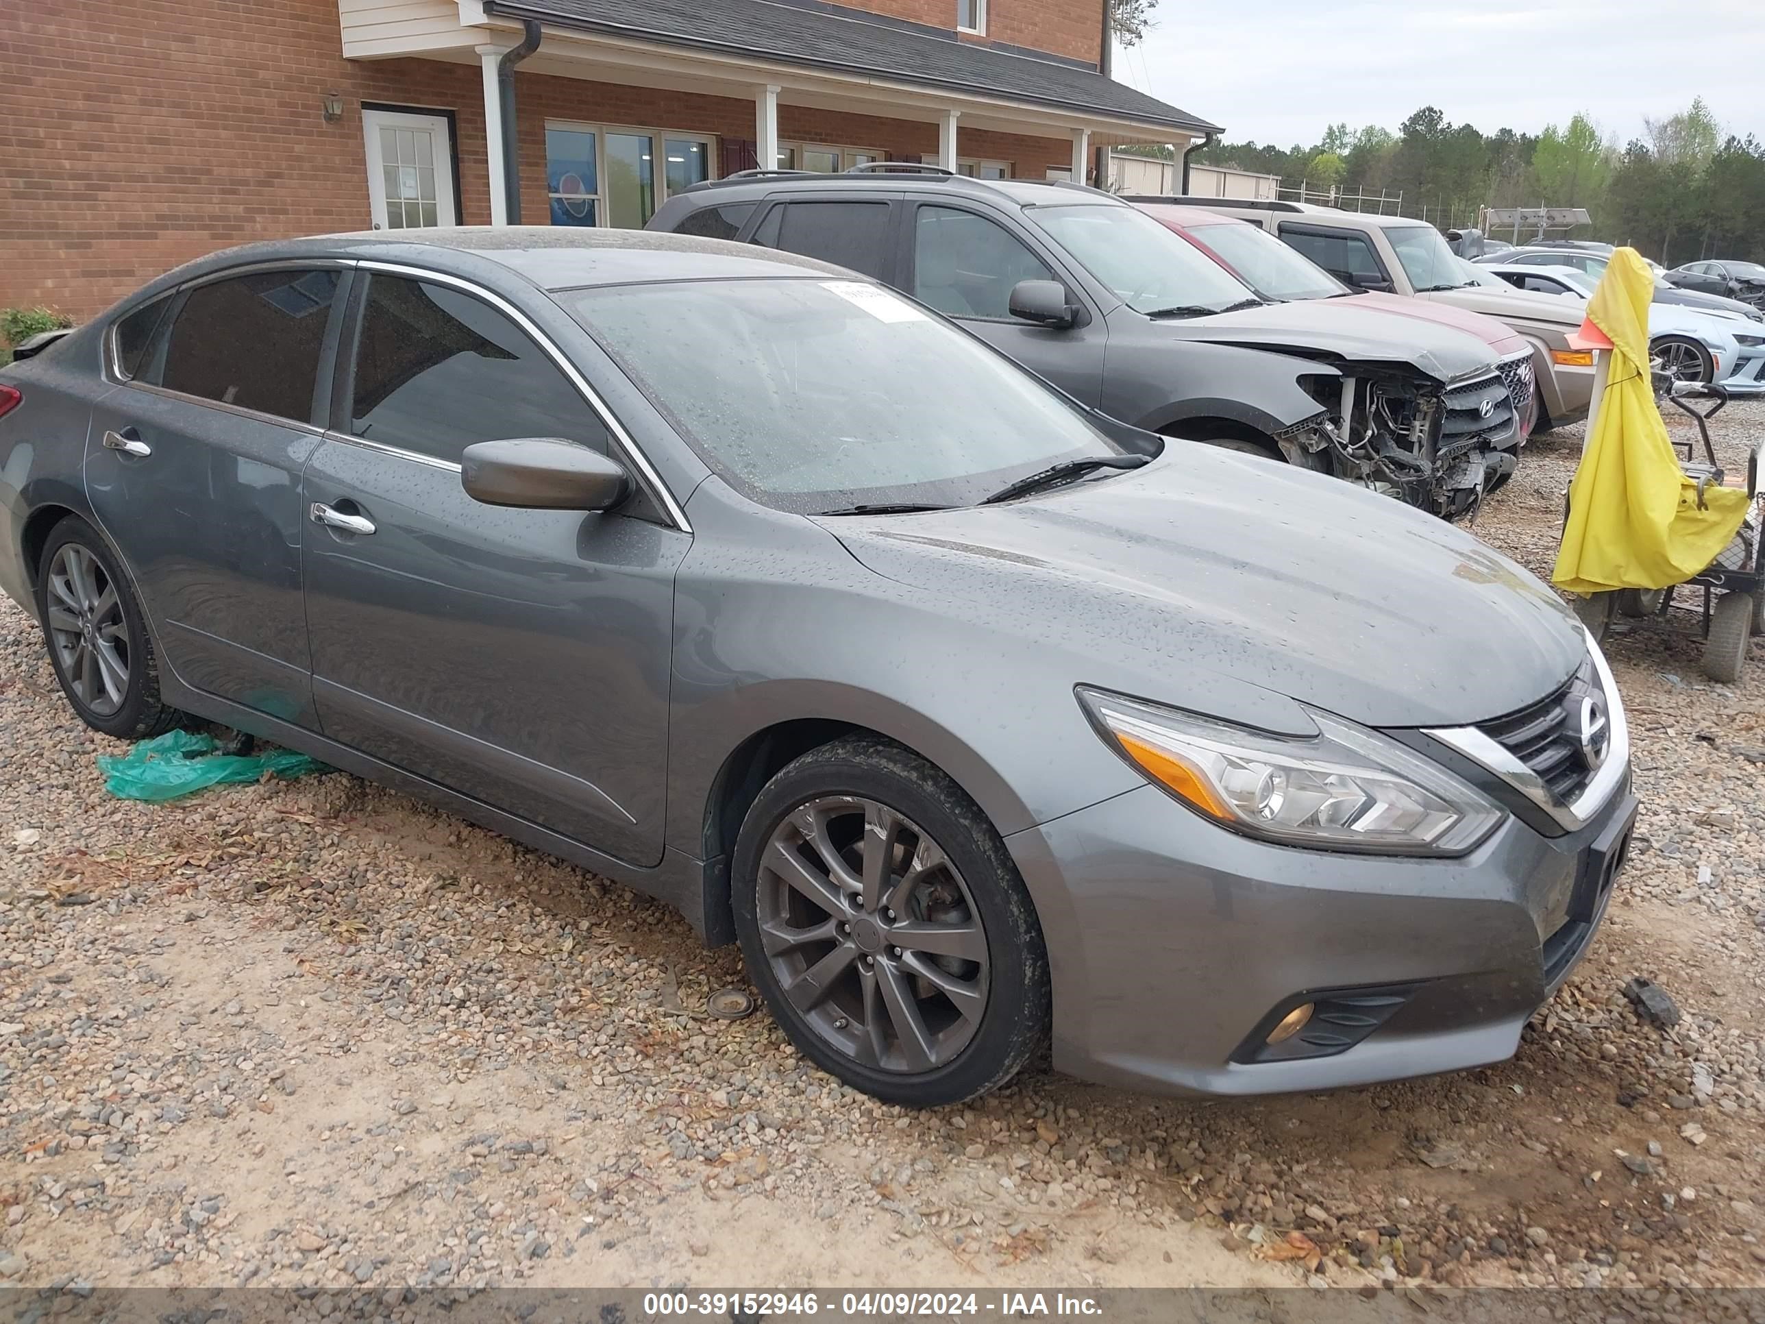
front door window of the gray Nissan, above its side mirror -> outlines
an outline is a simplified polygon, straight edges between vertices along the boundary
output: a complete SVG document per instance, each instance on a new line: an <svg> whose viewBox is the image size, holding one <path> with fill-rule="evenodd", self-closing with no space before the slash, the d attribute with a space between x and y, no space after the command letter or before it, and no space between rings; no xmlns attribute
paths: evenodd
<svg viewBox="0 0 1765 1324"><path fill-rule="evenodd" d="M607 448L600 415L526 332L441 284L369 281L349 397L351 436L455 464L517 436Z"/></svg>

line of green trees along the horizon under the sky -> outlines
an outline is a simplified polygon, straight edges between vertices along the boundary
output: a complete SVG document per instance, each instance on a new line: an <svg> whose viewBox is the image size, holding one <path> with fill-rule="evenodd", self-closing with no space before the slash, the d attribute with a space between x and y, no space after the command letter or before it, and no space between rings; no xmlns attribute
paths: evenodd
<svg viewBox="0 0 1765 1324"><path fill-rule="evenodd" d="M1442 229L1476 224L1479 207L1585 207L1594 222L1571 238L1629 244L1668 267L1765 261L1765 145L1724 132L1701 99L1643 120L1622 148L1587 115L1539 134L1484 134L1424 106L1396 132L1333 124L1311 147L1214 143L1191 161L1280 175L1283 189L1401 192L1386 210Z"/></svg>

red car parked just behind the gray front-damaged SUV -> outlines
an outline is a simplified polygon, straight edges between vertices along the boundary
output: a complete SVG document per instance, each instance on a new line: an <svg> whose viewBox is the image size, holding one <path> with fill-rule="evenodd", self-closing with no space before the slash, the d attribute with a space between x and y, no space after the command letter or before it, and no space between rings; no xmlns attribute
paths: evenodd
<svg viewBox="0 0 1765 1324"><path fill-rule="evenodd" d="M1205 207L1167 207L1165 203L1135 203L1135 207L1165 229L1186 238L1271 302L1334 300L1333 307L1373 307L1476 335L1495 353L1497 367L1507 381L1507 392L1521 418L1521 441L1530 434L1536 422L1532 346L1507 323L1481 312L1431 304L1424 298L1403 298L1343 284L1315 261L1281 244L1262 226L1253 226L1228 212L1211 212Z"/></svg>

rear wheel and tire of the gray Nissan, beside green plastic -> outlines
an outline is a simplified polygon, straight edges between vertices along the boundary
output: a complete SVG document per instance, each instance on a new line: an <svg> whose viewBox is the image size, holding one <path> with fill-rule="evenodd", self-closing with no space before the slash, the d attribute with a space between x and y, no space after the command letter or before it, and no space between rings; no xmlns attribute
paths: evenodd
<svg viewBox="0 0 1765 1324"><path fill-rule="evenodd" d="M78 515L49 531L37 567L37 620L74 713L118 740L157 736L180 713L159 697L141 604L109 544Z"/></svg>

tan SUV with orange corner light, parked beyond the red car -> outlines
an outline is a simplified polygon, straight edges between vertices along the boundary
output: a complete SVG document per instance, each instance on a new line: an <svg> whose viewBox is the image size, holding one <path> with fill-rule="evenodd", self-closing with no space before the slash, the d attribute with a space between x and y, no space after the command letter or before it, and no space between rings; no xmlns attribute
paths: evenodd
<svg viewBox="0 0 1765 1324"><path fill-rule="evenodd" d="M1343 284L1483 312L1506 321L1532 344L1539 420L1534 431L1587 417L1594 395L1594 355L1569 337L1580 330L1560 304L1518 290L1490 290L1465 275L1463 260L1440 231L1398 215L1341 212L1311 203L1250 201L1239 198L1140 198L1228 210L1251 221Z"/></svg>

